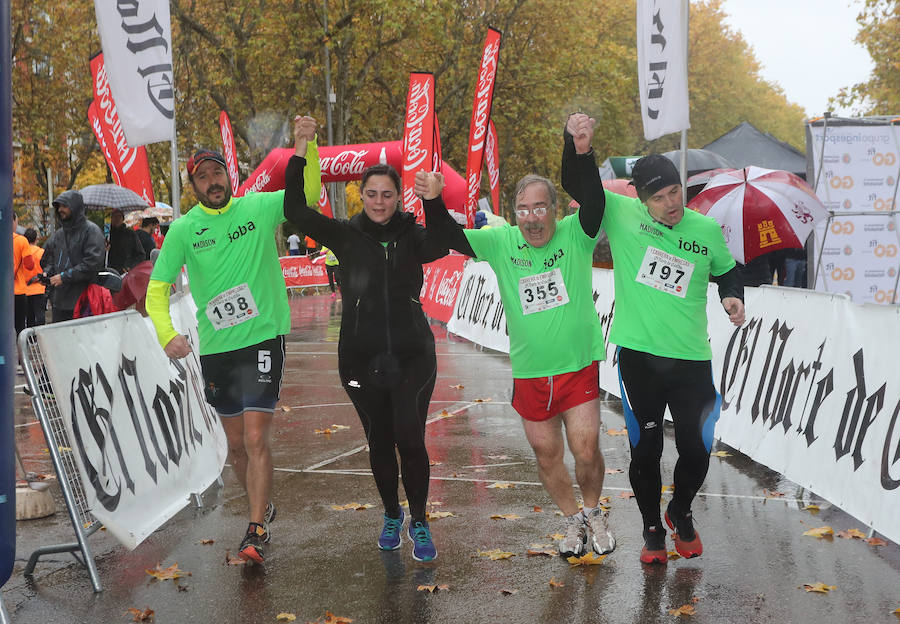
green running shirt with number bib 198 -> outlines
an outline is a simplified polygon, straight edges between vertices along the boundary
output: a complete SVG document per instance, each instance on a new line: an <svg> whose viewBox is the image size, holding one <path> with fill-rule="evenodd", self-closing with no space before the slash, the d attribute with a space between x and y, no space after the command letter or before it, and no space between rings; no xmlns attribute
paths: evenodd
<svg viewBox="0 0 900 624"><path fill-rule="evenodd" d="M284 191L276 191L232 198L221 214L209 214L197 204L172 222L150 279L173 284L187 266L200 355L290 333L275 245L275 228L284 221Z"/></svg>

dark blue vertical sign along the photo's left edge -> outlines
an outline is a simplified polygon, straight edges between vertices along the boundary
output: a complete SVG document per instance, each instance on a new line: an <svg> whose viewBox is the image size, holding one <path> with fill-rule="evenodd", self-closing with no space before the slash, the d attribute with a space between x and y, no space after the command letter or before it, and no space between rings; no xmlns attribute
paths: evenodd
<svg viewBox="0 0 900 624"><path fill-rule="evenodd" d="M10 3L0 0L0 585L16 559L16 472L13 439L13 385L16 345L13 331L12 267L12 51Z"/></svg>

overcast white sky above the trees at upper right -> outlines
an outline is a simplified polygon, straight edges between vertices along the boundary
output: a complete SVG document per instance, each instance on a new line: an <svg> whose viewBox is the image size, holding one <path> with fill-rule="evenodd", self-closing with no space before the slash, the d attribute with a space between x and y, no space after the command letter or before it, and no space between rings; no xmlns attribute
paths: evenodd
<svg viewBox="0 0 900 624"><path fill-rule="evenodd" d="M853 41L861 5L862 0L724 0L722 9L728 25L756 52L763 78L781 85L807 116L818 117L841 87L869 77L869 54Z"/></svg>

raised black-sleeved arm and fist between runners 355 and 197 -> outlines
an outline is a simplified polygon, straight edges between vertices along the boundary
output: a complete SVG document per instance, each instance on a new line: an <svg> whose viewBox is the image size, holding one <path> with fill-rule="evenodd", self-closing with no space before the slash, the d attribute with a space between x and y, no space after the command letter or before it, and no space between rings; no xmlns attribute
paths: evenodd
<svg viewBox="0 0 900 624"><path fill-rule="evenodd" d="M595 120L584 113L573 113L563 131L562 185L578 202L578 220L581 229L590 237L600 231L606 208L606 193L600 180L600 171L591 141L594 138Z"/></svg>

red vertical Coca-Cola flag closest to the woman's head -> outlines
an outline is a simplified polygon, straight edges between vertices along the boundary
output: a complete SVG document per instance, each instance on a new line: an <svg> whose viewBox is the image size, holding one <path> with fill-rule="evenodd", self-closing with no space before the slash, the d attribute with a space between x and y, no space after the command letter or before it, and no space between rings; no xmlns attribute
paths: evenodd
<svg viewBox="0 0 900 624"><path fill-rule="evenodd" d="M424 223L422 200L416 197L416 173L434 163L434 76L411 73L406 94L406 124L403 131L403 209Z"/></svg>

